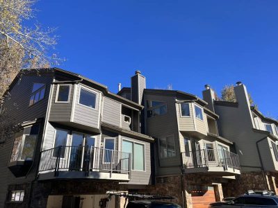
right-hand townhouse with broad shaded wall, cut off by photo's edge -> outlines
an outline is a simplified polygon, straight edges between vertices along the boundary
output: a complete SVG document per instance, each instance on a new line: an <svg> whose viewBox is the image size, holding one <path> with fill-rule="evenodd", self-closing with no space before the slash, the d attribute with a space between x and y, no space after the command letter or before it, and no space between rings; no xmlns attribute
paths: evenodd
<svg viewBox="0 0 278 208"><path fill-rule="evenodd" d="M220 116L220 134L234 142L240 160L241 174L226 184L224 194L236 196L250 189L272 190L277 194L278 122L250 105L243 83L236 83L234 93L236 102L227 102L218 101L209 86L203 92L208 108Z"/></svg>

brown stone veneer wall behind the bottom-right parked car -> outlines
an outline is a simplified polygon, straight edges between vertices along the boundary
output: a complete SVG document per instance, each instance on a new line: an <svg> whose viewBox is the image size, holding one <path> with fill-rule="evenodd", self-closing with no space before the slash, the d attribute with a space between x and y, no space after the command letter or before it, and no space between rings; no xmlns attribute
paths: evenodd
<svg viewBox="0 0 278 208"><path fill-rule="evenodd" d="M247 172L236 176L236 180L229 180L223 184L224 197L238 196L247 190L270 190L278 194L278 174L271 172Z"/></svg>

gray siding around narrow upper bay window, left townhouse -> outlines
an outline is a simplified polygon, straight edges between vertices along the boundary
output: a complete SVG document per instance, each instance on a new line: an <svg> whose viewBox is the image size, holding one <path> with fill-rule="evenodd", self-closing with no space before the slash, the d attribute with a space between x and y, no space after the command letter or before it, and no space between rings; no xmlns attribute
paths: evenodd
<svg viewBox="0 0 278 208"><path fill-rule="evenodd" d="M74 96L74 85L70 85L70 100L69 103L56 103L56 94L58 85L53 85L53 95L51 97L51 109L49 113L49 121L70 122L72 114L72 100Z"/></svg>

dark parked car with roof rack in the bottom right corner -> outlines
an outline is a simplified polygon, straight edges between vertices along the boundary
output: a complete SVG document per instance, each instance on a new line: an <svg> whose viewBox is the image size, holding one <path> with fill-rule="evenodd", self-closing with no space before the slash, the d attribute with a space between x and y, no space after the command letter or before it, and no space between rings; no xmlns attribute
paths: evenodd
<svg viewBox="0 0 278 208"><path fill-rule="evenodd" d="M209 208L222 207L222 208L231 208L231 207L245 207L245 208L258 208L258 207L278 207L278 198L277 196L270 195L242 195L234 198L229 202L215 202L209 205Z"/></svg>

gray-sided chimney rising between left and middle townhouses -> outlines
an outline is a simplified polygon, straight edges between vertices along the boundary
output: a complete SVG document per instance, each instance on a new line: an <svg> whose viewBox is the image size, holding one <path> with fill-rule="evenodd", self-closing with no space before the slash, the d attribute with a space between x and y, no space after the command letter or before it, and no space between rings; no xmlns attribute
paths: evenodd
<svg viewBox="0 0 278 208"><path fill-rule="evenodd" d="M142 105L142 97L146 88L146 78L141 75L139 70L135 71L135 75L131 77L131 101Z"/></svg>

